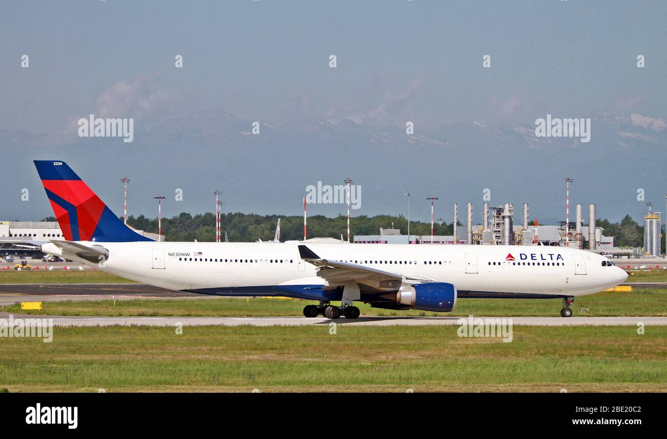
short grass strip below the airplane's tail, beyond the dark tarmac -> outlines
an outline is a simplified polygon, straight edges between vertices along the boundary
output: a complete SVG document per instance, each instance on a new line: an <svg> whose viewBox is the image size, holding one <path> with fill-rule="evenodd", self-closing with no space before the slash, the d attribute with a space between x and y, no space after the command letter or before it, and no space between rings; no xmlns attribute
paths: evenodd
<svg viewBox="0 0 667 439"><path fill-rule="evenodd" d="M134 284L113 274L79 270L0 272L0 284Z"/></svg>

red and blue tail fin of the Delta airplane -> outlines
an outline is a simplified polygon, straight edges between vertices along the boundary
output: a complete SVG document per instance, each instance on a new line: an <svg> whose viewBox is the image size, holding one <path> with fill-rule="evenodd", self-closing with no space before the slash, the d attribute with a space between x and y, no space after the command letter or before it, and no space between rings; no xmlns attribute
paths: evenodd
<svg viewBox="0 0 667 439"><path fill-rule="evenodd" d="M125 226L64 161L35 160L44 190L67 241L151 241Z"/></svg>

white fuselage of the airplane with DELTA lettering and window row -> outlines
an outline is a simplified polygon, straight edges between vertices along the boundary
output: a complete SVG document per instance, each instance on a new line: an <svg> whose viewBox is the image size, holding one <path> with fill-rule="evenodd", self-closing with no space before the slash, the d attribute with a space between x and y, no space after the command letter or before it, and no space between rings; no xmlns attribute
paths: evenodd
<svg viewBox="0 0 667 439"><path fill-rule="evenodd" d="M170 290L270 296L273 286L322 285L297 243L83 242L102 246L101 264L79 260L123 278ZM303 244L303 243L299 243ZM586 250L548 246L314 244L319 258L348 262L435 282L460 292L584 296L616 286L626 272ZM63 256L46 244L43 251ZM67 256L71 259L71 256ZM513 260L512 260L513 259Z"/></svg>

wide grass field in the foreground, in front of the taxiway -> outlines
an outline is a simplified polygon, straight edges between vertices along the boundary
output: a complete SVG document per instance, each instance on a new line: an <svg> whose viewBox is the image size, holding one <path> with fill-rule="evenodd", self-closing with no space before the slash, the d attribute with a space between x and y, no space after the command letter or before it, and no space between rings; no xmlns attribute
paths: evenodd
<svg viewBox="0 0 667 439"><path fill-rule="evenodd" d="M667 391L667 328L514 327L514 341L456 327L55 328L5 338L0 388L77 391Z"/></svg>

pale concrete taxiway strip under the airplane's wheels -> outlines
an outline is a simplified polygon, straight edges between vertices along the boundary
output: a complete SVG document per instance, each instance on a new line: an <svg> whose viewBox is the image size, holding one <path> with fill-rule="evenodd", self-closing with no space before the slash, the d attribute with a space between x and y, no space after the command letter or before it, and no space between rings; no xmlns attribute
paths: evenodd
<svg viewBox="0 0 667 439"><path fill-rule="evenodd" d="M14 314L13 319L53 319L53 326L454 326L467 317L362 317L356 320L305 317L61 317ZM475 319L485 317L475 316ZM667 326L667 317L488 317L519 326ZM9 319L6 312L0 319Z"/></svg>

